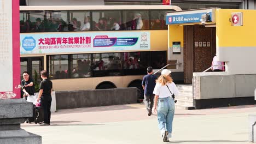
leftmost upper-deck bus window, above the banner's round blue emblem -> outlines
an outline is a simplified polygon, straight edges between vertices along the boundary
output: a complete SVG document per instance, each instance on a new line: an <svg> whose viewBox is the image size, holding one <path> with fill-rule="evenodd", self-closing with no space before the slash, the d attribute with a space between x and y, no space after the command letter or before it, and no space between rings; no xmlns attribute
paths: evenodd
<svg viewBox="0 0 256 144"><path fill-rule="evenodd" d="M20 32L44 32L43 11L20 13Z"/></svg>

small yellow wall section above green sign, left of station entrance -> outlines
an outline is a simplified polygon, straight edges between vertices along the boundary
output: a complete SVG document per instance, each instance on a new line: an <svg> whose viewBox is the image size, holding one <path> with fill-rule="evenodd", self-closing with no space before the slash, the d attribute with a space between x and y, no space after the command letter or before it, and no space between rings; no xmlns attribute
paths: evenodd
<svg viewBox="0 0 256 144"><path fill-rule="evenodd" d="M183 26L168 25L169 29L169 45L172 46L173 41L181 41L181 47L183 47Z"/></svg>

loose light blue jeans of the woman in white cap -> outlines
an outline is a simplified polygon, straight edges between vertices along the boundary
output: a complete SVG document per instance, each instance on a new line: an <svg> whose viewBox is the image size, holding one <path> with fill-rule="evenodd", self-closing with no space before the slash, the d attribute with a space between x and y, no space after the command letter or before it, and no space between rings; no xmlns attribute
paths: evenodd
<svg viewBox="0 0 256 144"><path fill-rule="evenodd" d="M171 97L158 99L158 127L161 134L167 130L172 133L172 121L174 116L174 100Z"/></svg>

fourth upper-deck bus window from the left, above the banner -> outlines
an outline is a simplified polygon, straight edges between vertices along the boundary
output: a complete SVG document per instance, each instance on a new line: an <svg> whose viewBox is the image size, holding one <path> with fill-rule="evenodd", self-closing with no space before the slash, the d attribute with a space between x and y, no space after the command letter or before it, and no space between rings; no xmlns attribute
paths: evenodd
<svg viewBox="0 0 256 144"><path fill-rule="evenodd" d="M106 10L92 12L92 27L94 31L119 30L121 25L121 11Z"/></svg>

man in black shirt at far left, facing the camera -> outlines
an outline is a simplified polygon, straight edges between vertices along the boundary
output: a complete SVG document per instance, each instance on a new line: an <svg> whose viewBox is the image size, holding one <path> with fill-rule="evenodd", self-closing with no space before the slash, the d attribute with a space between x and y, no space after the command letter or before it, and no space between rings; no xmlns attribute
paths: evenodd
<svg viewBox="0 0 256 144"><path fill-rule="evenodd" d="M34 89L34 81L30 77L27 71L24 71L22 73L23 75L23 80L21 81L21 86L22 86L22 92L24 92L25 100L27 100L27 97L30 95L35 95L36 90Z"/></svg>

